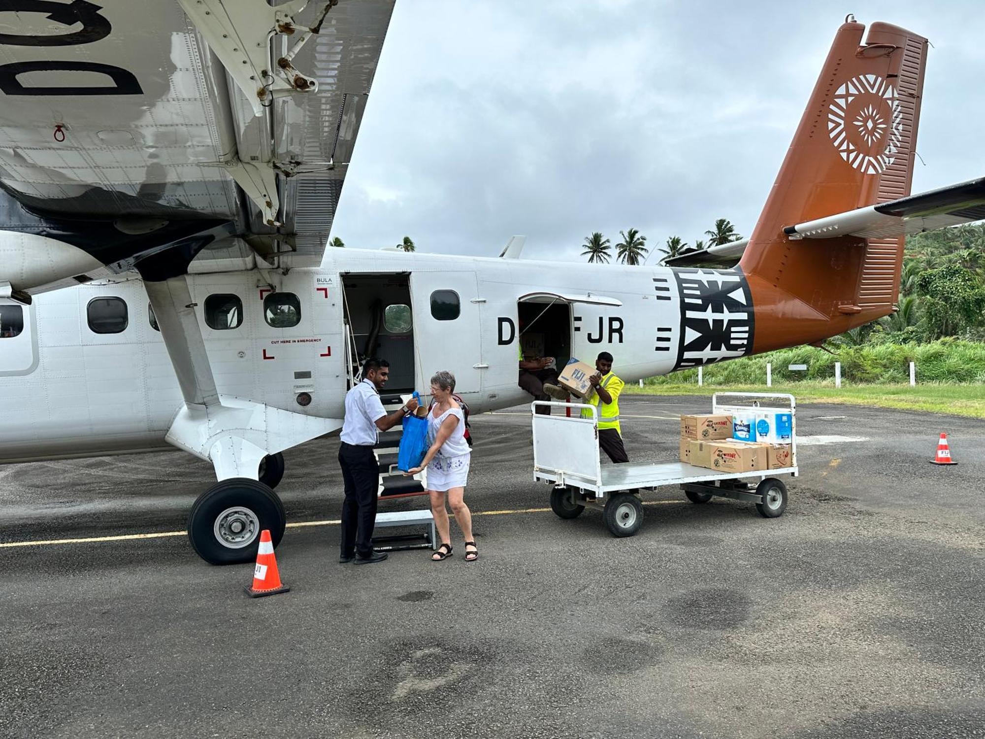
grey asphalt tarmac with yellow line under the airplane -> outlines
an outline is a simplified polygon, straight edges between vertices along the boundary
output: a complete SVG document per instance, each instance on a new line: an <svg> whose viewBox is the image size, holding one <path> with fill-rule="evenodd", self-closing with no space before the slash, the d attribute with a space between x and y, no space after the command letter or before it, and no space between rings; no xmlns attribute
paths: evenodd
<svg viewBox="0 0 985 739"><path fill-rule="evenodd" d="M630 457L672 460L708 400L622 405ZM985 737L985 424L805 405L783 516L664 488L615 539L545 510L529 423L474 418L476 563L454 526L443 563L369 567L293 527L291 592L252 600L181 535L0 548L0 734ZM290 521L338 519L336 449L286 453ZM212 479L177 451L0 467L0 542L180 531Z"/></svg>

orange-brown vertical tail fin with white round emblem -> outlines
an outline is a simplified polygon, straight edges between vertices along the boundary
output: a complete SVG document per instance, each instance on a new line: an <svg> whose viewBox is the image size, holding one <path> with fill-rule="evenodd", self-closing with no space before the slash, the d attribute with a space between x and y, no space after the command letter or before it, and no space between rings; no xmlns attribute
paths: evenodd
<svg viewBox="0 0 985 739"><path fill-rule="evenodd" d="M819 248L784 234L910 193L927 39L885 23L864 32L854 19L838 29L740 262L756 303L756 352L789 346L781 324L790 318L826 324L820 339L896 301L902 238L846 235ZM776 303L785 307L768 307Z"/></svg>

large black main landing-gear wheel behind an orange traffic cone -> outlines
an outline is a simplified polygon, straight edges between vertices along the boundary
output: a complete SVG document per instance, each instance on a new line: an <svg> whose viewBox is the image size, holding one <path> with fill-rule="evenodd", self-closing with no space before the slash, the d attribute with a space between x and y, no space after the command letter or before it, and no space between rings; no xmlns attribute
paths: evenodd
<svg viewBox="0 0 985 739"><path fill-rule="evenodd" d="M188 514L191 546L210 565L253 562L260 532L270 529L276 547L284 536L284 505L257 480L222 480L199 496Z"/></svg>

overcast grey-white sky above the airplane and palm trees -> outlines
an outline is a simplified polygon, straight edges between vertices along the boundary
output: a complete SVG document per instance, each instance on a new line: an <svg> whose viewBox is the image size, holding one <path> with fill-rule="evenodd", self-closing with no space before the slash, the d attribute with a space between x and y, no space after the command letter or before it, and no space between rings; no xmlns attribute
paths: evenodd
<svg viewBox="0 0 985 739"><path fill-rule="evenodd" d="M913 191L985 175L981 8L397 0L333 235L558 260L593 231L749 235L849 12L934 44Z"/></svg>

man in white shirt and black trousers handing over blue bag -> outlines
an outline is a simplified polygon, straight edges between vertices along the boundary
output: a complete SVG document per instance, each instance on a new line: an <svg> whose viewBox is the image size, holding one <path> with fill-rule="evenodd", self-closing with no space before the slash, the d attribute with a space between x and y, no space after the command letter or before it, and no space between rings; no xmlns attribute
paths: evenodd
<svg viewBox="0 0 985 739"><path fill-rule="evenodd" d="M368 359L362 365L362 381L346 393L346 418L342 423L342 445L339 446L339 465L346 486L340 565L354 559L357 565L386 559L385 552L372 551L379 489L379 463L372 447L376 445L379 432L389 431L405 414L418 407L418 401L411 398L405 406L387 415L379 391L389 376L390 364L386 360Z"/></svg>

